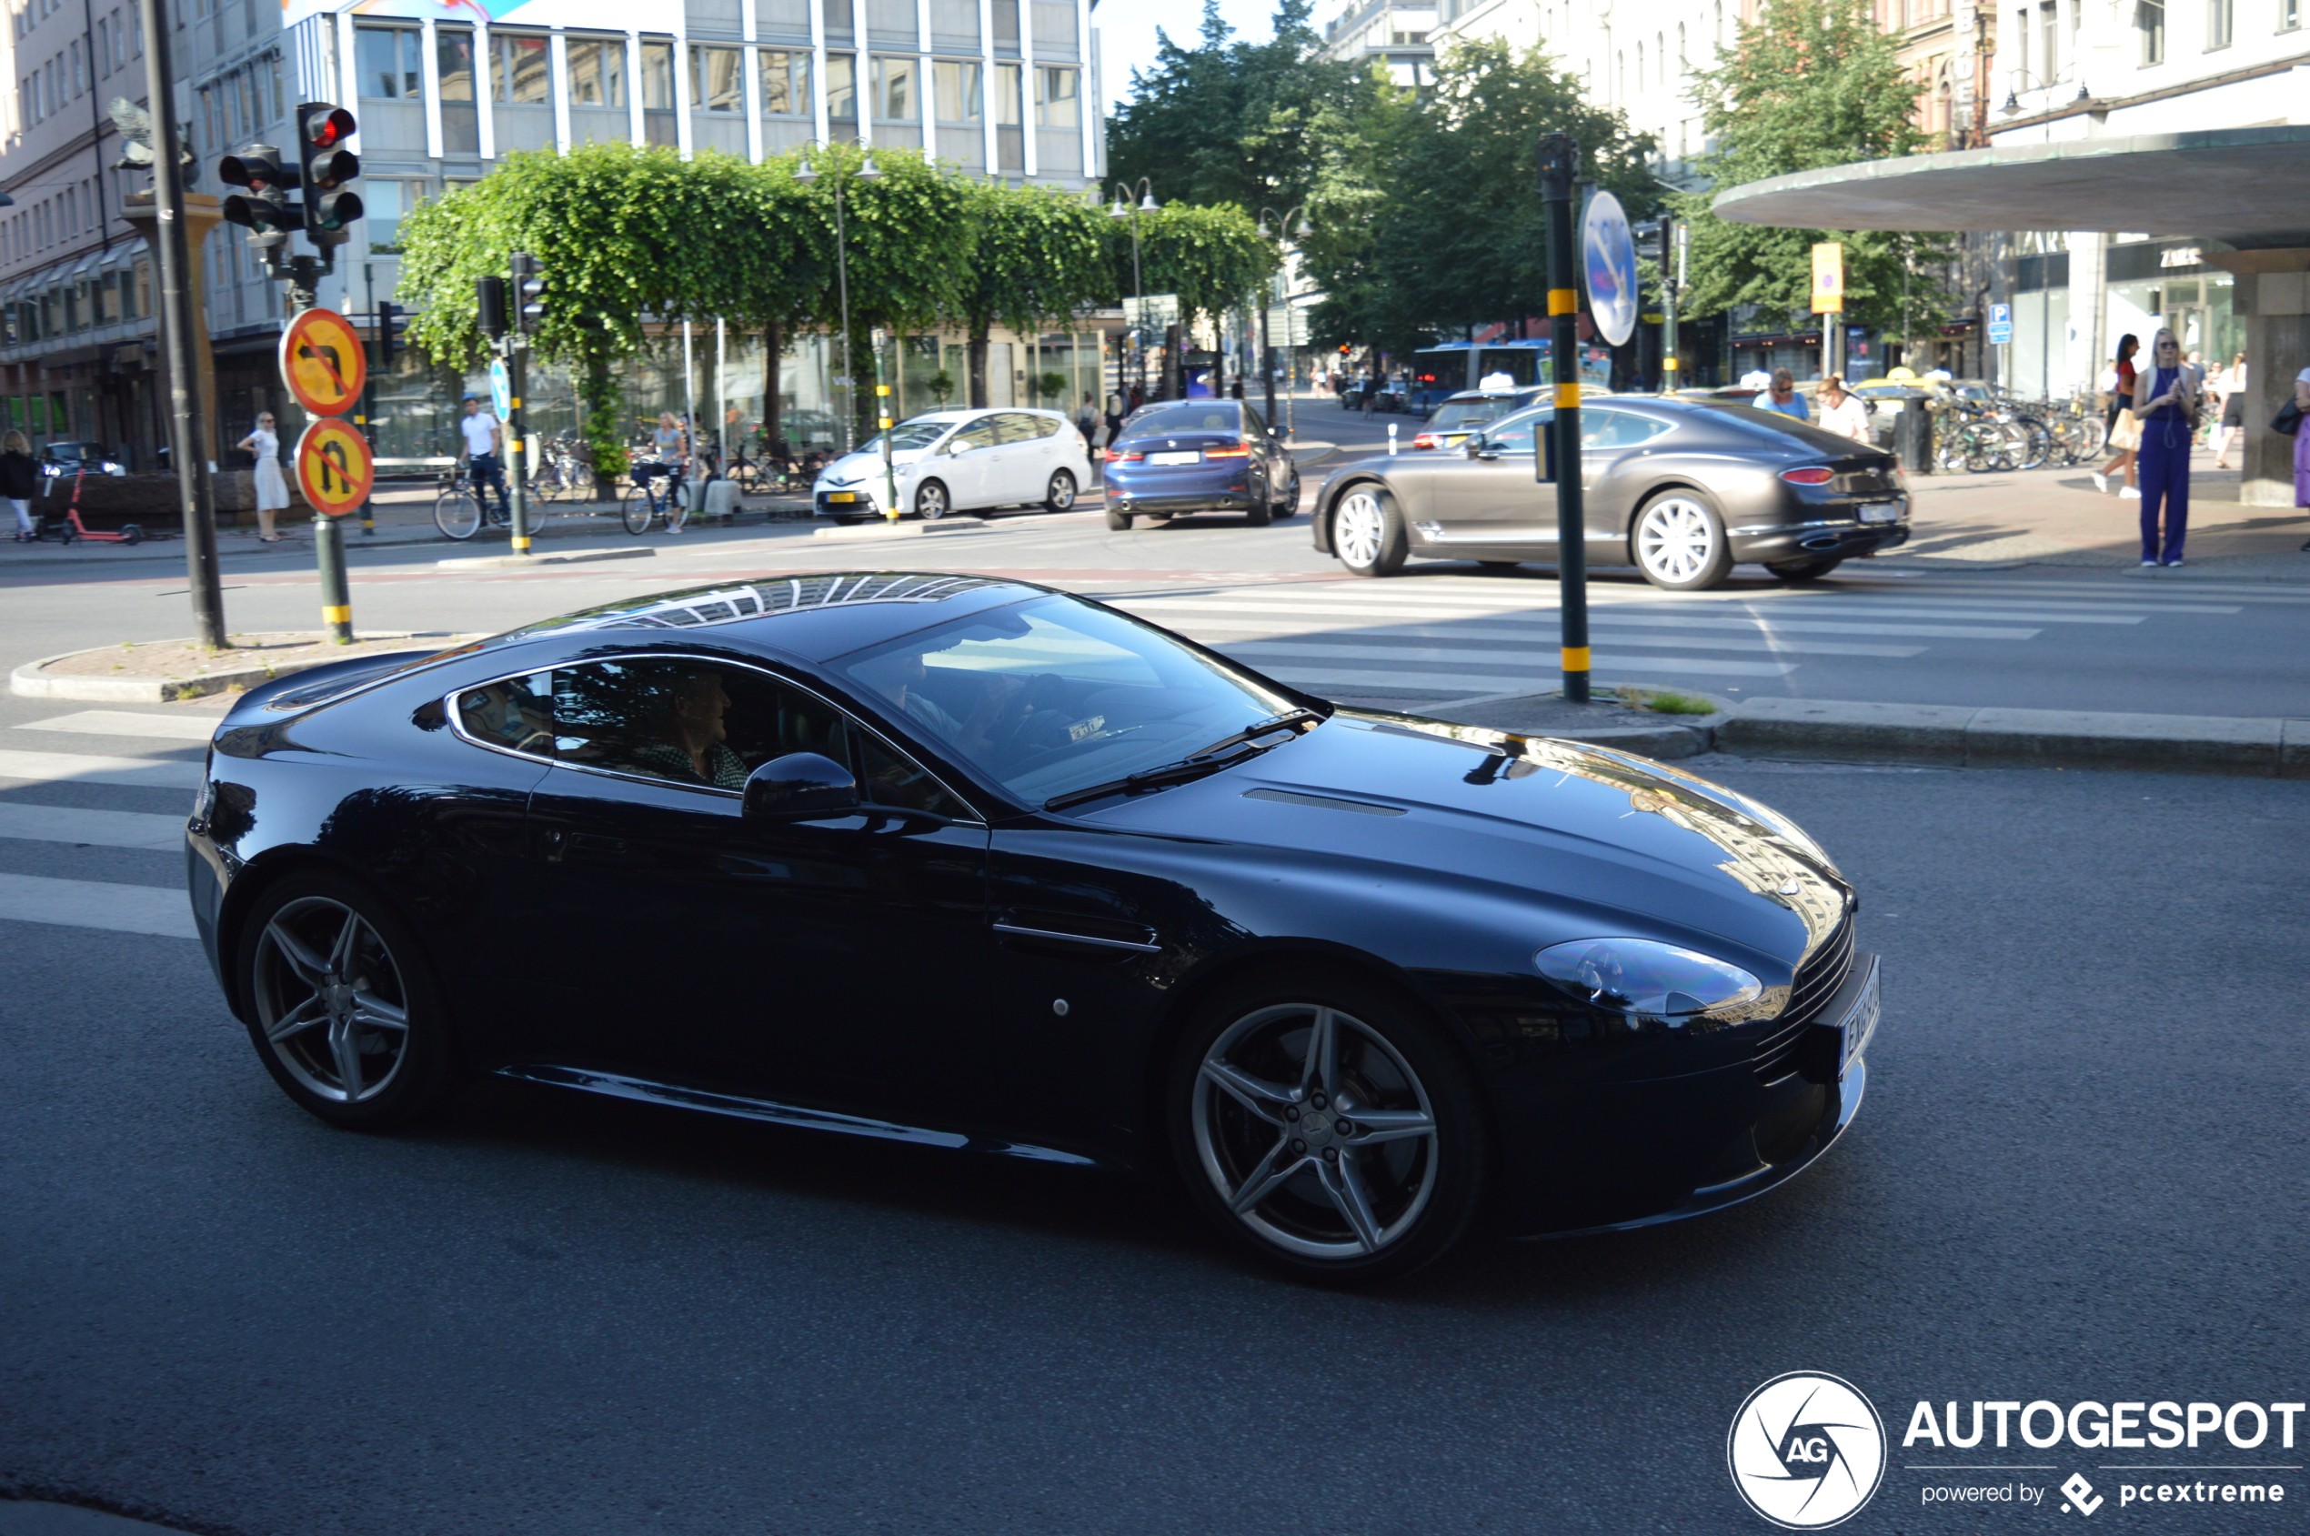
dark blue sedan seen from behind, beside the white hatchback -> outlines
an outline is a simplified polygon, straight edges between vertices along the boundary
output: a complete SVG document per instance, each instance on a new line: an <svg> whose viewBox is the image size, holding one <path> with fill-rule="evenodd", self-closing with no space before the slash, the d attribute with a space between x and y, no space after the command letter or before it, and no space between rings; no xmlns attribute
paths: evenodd
<svg viewBox="0 0 2310 1536"><path fill-rule="evenodd" d="M1106 446L1106 527L1240 510L1252 527L1298 510L1298 464L1245 400L1134 411Z"/></svg>

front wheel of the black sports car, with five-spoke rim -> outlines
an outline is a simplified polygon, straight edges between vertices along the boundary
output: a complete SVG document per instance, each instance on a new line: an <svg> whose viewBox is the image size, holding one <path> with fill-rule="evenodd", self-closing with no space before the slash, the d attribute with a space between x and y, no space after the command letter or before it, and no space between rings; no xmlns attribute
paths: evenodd
<svg viewBox="0 0 2310 1536"><path fill-rule="evenodd" d="M1354 979L1270 972L1208 998L1171 1053L1164 1118L1197 1210L1310 1284L1425 1268L1483 1203L1490 1136L1465 1053Z"/></svg>

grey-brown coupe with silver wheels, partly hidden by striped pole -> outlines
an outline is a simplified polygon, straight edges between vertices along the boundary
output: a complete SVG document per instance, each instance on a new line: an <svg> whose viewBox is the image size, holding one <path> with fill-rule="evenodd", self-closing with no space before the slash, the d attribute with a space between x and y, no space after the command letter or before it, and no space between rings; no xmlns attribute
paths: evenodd
<svg viewBox="0 0 2310 1536"><path fill-rule="evenodd" d="M1557 557L1557 487L1532 443L1555 407L1488 423L1458 450L1351 460L1317 490L1314 547L1358 575L1407 557L1485 566ZM1716 587L1739 561L1818 580L1908 540L1894 455L1758 411L1612 395L1580 407L1592 566L1635 566L1654 587Z"/></svg>

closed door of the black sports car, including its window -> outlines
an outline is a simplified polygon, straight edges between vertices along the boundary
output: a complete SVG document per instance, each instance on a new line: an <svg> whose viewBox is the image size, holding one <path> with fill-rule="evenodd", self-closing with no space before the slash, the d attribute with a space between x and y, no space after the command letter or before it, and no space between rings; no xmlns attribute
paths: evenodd
<svg viewBox="0 0 2310 1536"><path fill-rule="evenodd" d="M746 771L795 751L875 808L748 818ZM578 986L571 1065L922 1116L975 1060L986 827L818 693L728 658L561 668L531 820L552 938L527 959Z"/></svg>

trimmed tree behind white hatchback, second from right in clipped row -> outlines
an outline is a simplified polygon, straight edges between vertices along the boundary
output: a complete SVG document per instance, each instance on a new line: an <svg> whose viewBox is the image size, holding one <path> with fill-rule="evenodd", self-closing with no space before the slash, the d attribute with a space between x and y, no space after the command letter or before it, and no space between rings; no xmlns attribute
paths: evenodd
<svg viewBox="0 0 2310 1536"><path fill-rule="evenodd" d="M1116 296L1106 217L1058 187L970 189L970 270L956 314L970 335L970 404L986 404L986 335L1037 335L1046 321Z"/></svg>

